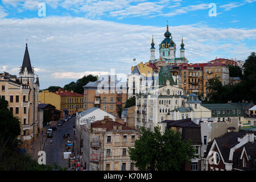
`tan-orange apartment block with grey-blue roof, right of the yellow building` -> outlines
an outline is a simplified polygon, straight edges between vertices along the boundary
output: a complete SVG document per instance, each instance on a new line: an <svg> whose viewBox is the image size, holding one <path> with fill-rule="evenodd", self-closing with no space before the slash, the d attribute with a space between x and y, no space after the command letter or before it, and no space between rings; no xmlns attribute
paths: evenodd
<svg viewBox="0 0 256 182"><path fill-rule="evenodd" d="M117 76L101 76L97 81L84 86L84 109L99 107L118 115L127 101L127 82L117 80Z"/></svg>

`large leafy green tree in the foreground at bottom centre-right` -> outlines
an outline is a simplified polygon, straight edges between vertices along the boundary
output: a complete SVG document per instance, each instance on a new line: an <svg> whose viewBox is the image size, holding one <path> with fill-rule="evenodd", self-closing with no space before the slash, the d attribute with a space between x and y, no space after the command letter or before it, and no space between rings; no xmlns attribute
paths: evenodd
<svg viewBox="0 0 256 182"><path fill-rule="evenodd" d="M181 134L171 129L166 129L162 135L158 126L153 132L142 127L134 148L129 147L128 152L136 167L152 171L179 171L185 162L196 157L191 140L181 140Z"/></svg>

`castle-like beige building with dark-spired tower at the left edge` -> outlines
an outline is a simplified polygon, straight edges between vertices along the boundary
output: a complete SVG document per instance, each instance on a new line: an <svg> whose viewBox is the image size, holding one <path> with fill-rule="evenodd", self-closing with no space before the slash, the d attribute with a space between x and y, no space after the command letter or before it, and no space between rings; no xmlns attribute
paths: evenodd
<svg viewBox="0 0 256 182"><path fill-rule="evenodd" d="M0 85L0 95L9 102L11 113L19 118L21 133L18 138L23 140L22 147L29 150L43 126L38 114L39 77L31 66L27 44L19 77L1 73Z"/></svg>

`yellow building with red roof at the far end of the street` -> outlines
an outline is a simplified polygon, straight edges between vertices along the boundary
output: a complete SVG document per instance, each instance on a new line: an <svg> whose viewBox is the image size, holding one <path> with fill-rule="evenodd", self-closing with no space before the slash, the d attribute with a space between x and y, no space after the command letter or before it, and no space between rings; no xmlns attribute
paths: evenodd
<svg viewBox="0 0 256 182"><path fill-rule="evenodd" d="M43 90L39 93L38 100L41 104L55 106L57 110L61 111L61 117L84 110L84 96L73 91L59 89L56 92L49 92L49 90Z"/></svg>

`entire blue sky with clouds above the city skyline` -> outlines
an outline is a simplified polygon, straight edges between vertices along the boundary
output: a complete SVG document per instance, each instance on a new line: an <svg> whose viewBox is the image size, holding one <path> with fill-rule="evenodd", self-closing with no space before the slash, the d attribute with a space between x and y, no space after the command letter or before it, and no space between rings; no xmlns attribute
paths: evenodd
<svg viewBox="0 0 256 182"><path fill-rule="evenodd" d="M2 0L0 72L18 75L27 42L40 89L110 69L127 75L150 60L152 35L159 57L167 21L176 57L183 37L189 63L245 60L256 49L255 10L256 0Z"/></svg>

